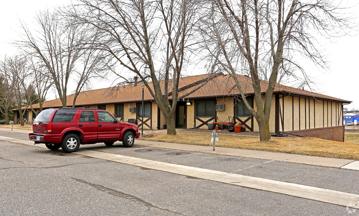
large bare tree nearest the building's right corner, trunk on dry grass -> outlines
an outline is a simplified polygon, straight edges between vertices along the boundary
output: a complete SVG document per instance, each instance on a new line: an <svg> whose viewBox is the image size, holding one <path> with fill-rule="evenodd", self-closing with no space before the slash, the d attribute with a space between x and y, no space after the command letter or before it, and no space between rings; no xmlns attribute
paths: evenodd
<svg viewBox="0 0 359 216"><path fill-rule="evenodd" d="M232 75L258 123L260 140L269 141L272 94L280 74L293 79L302 74L308 83L298 61L304 57L325 66L317 38L339 36L349 28L348 19L332 0L210 0L208 5L202 35L210 64ZM237 73L250 75L256 110L247 102ZM268 80L265 91L261 75Z"/></svg>

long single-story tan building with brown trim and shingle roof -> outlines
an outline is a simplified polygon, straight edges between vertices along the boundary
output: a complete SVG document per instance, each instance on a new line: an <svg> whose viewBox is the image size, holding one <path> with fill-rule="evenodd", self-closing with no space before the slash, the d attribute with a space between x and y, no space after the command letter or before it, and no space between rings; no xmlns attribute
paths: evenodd
<svg viewBox="0 0 359 216"><path fill-rule="evenodd" d="M187 76L180 79L179 94L194 88L206 80L208 75ZM239 82L247 94L247 99L256 110L252 80L238 75ZM261 81L264 94L268 82ZM74 95L67 96L68 106ZM171 99L171 96L169 96ZM264 96L263 96L264 98ZM120 121L137 119L141 127L141 84L123 85L81 92L76 99L76 107L104 109ZM311 91L275 85L270 112L271 133L293 133L302 136L319 137L328 140L344 141L343 104L351 101L334 98ZM43 103L43 108L61 107L60 99ZM33 108L39 111L39 105ZM25 121L34 121L35 113L28 109ZM214 121L234 121L242 123L248 131L259 131L258 124L241 100L234 79L229 75L218 74L204 86L177 103L176 127L207 128ZM19 123L15 112L15 123ZM228 120L229 119L229 120ZM147 89L144 91L144 128L163 129L165 118Z"/></svg>

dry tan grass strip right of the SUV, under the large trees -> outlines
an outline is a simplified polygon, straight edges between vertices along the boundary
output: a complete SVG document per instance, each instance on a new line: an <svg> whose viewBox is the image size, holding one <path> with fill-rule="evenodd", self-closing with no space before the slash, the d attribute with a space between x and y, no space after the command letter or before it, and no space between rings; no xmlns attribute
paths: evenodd
<svg viewBox="0 0 359 216"><path fill-rule="evenodd" d="M216 143L216 146L220 147L359 160L359 135L345 135L346 142L336 142L320 138L286 137L272 137L272 142L260 142L259 137L255 136L225 134L218 134L218 138L219 142ZM156 133L154 137L143 137L140 140L191 145L213 145L210 142L210 133L177 132L175 136L169 136L166 133Z"/></svg>

